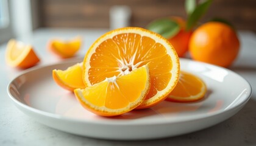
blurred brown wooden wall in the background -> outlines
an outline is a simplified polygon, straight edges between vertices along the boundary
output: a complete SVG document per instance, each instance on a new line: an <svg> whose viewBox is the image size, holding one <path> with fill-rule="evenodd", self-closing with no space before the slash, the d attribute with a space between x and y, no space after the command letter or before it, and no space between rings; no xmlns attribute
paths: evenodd
<svg viewBox="0 0 256 146"><path fill-rule="evenodd" d="M108 28L113 5L128 5L131 26L144 27L155 18L186 18L184 0L43 0L38 1L40 27ZM237 28L256 32L255 0L214 0L202 22L213 16L225 18Z"/></svg>

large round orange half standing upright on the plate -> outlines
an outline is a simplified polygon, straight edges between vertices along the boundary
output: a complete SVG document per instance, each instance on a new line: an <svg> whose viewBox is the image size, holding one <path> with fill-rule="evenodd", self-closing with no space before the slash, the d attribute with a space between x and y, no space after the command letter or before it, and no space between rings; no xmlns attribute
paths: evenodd
<svg viewBox="0 0 256 146"><path fill-rule="evenodd" d="M165 100L179 80L179 57L169 41L157 33L125 27L102 35L85 55L84 83L91 86L105 78L120 77L145 64L149 65L151 88L137 109L149 108Z"/></svg>

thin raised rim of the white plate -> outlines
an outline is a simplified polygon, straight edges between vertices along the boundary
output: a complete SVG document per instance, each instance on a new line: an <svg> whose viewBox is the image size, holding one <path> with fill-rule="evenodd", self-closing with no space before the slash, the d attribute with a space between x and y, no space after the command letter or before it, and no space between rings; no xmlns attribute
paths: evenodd
<svg viewBox="0 0 256 146"><path fill-rule="evenodd" d="M35 66L34 68L27 69L26 71L21 72L21 74L16 75L16 77L14 77L12 80L10 80L9 84L7 85L7 94L9 95L10 99L12 100L12 102L15 103L16 106L18 105L21 108L24 108L28 111L31 111L31 112L35 113L35 114L40 114L40 116L46 116L46 117L50 117L52 119L58 119L58 120L66 120L68 122L79 122L79 123L101 124L101 125L126 125L126 126L129 126L129 125L145 125L145 124L146 125L159 125L159 124L162 125L162 124L169 124L169 123L189 122L189 121L193 121L193 120L205 119L207 117L218 116L219 114L226 113L228 111L232 111L233 109L236 109L236 108L240 108L241 106L245 105L248 102L248 100L251 99L251 96L252 96L252 86L250 85L250 83L244 77L237 74L236 72L231 71L230 69L227 69L227 68L222 68L220 66L215 66L213 64L208 64L208 63L204 63L204 62L201 62L201 61L194 61L194 60L190 60L190 59L187 59L187 58L180 58L180 60L187 61L187 62L193 62L193 63L199 63L199 64L202 64L204 66L211 66L211 67L214 67L214 68L220 68L220 69L224 69L228 72L232 72L232 74L235 74L238 77L242 78L244 80L244 82L248 85L249 94L247 94L247 96L246 96L246 98L244 98L243 102L240 102L238 105L232 106L231 108L229 108L225 111L216 111L215 113L211 113L211 114L207 114L207 115L199 114L199 115L196 115L196 116L193 116L193 117L191 117L191 116L190 117L184 117L182 119L174 120L174 121L169 120L169 119L154 119L153 122L145 123L144 121L131 122L132 120L127 120L127 119L121 119L121 120L114 120L114 119L113 120L74 119L74 118L71 118L71 117L65 117L65 116L62 116L62 115L59 115L59 114L49 113L47 111L42 111L40 109L33 108L29 105L26 105L26 104L20 102L15 97L13 97L12 94L10 93L10 87L12 86L12 83L16 80L16 78L19 78L22 75L25 75L25 74L27 74L29 72L32 72L32 71L37 71L38 69L51 68L52 66L58 66L58 65L61 65L61 64L77 63L78 60L80 60L80 58L76 58L76 59L73 59L73 60L65 60L65 61L62 61L61 63L52 63L52 64L46 64L46 65L43 65L43 66Z"/></svg>

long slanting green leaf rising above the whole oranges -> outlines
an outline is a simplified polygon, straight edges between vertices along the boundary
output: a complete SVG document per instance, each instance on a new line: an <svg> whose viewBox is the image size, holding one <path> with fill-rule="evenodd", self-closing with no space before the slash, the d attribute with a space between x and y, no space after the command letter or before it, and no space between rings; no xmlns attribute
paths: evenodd
<svg viewBox="0 0 256 146"><path fill-rule="evenodd" d="M186 26L187 31L193 29L193 27L197 24L199 19L204 15L205 12L207 12L208 7L210 6L211 3L212 3L212 0L199 2L197 7L191 13L191 15L188 16L188 21Z"/></svg>

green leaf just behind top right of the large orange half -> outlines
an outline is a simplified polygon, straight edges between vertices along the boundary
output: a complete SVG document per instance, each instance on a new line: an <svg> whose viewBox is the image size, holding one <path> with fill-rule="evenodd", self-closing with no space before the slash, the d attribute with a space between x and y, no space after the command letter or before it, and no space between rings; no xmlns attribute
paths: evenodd
<svg viewBox="0 0 256 146"><path fill-rule="evenodd" d="M148 24L146 29L156 32L165 38L171 38L180 31L180 26L170 18L162 18Z"/></svg>

